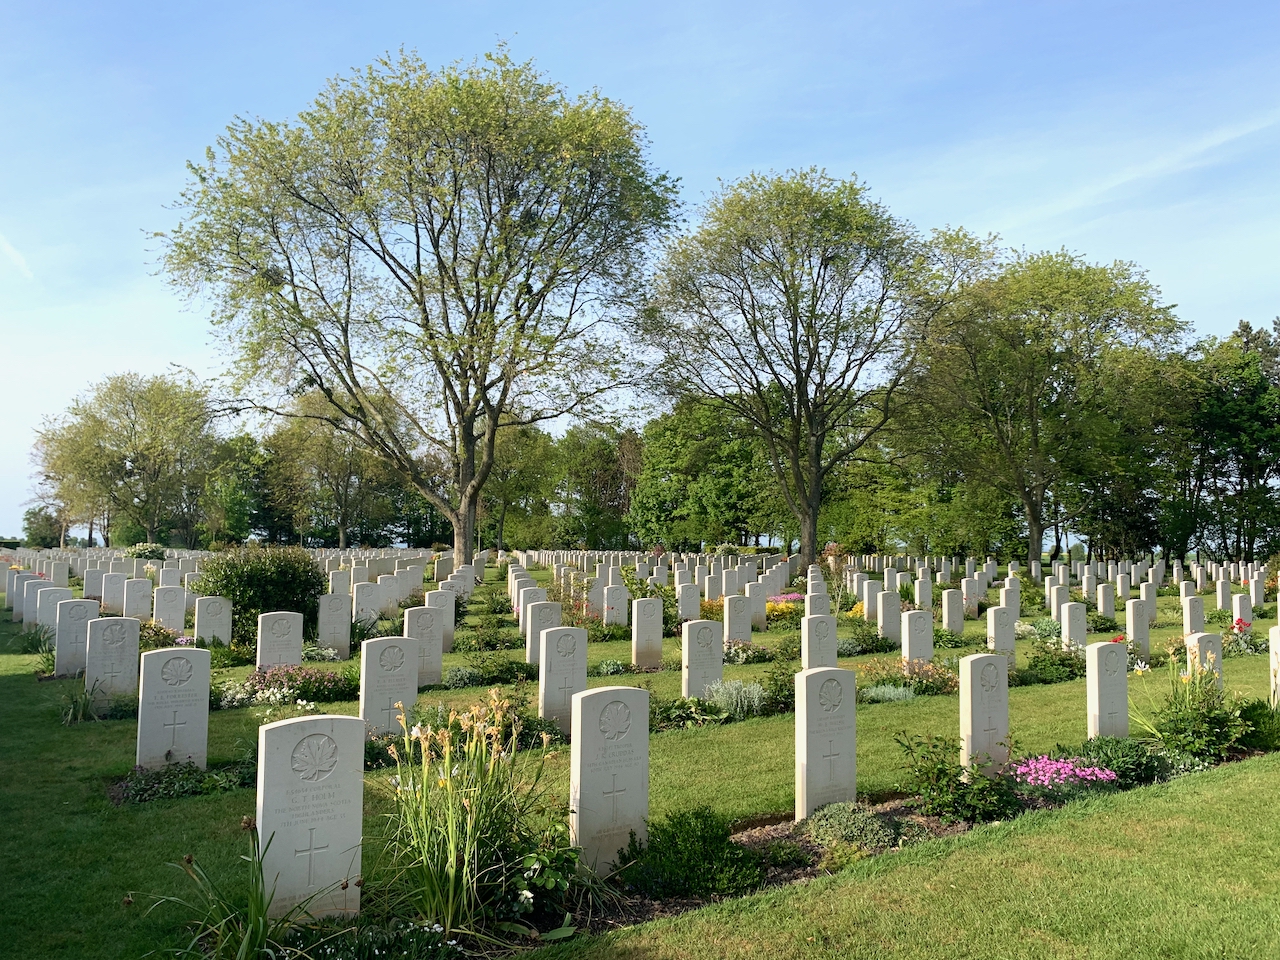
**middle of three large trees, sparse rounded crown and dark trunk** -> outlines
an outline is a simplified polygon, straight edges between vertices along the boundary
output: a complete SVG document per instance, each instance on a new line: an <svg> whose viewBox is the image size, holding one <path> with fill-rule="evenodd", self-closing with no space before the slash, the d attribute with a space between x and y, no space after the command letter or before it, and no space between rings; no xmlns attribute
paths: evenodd
<svg viewBox="0 0 1280 960"><path fill-rule="evenodd" d="M888 421L959 239L923 243L856 180L806 170L723 188L667 250L641 324L655 375L751 426L806 563L827 479Z"/></svg>

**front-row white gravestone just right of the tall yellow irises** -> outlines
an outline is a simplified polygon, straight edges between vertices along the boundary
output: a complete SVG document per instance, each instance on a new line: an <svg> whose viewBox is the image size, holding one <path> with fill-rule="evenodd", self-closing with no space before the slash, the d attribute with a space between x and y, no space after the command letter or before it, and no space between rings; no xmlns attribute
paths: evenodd
<svg viewBox="0 0 1280 960"><path fill-rule="evenodd" d="M596 687L575 694L571 712L570 842L608 876L632 832L648 837L649 691Z"/></svg>

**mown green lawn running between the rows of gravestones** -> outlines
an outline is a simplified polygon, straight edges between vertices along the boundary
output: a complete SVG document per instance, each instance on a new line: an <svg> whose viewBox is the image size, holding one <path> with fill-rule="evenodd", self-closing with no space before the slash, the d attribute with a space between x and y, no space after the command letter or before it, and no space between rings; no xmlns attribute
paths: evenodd
<svg viewBox="0 0 1280 960"><path fill-rule="evenodd" d="M1176 628L1165 617L1166 607L1172 613L1176 598L1161 598L1162 620L1170 620L1167 632L1172 634ZM0 616L0 652L12 649L15 632L8 613ZM1164 632L1153 631L1153 644ZM974 652L984 639L984 625L968 623L966 637L970 634L975 646L955 653ZM772 644L781 636L758 639ZM626 643L593 644L589 659L627 660L628 648ZM668 639L666 649L678 654L678 641ZM847 658L841 666L870 659ZM60 726L59 700L77 681L37 684L33 662L29 655L0 653L0 876L8 893L0 956L138 957L172 946L180 934L179 914L165 908L148 916L143 897L125 905L125 895L189 895L186 878L165 867L184 854L195 854L211 876L238 888L243 877L238 858L246 850L239 823L253 813L253 791L114 806L105 786L132 767L136 723ZM445 667L462 663L465 654L445 657ZM1233 691L1263 695L1266 657L1230 659L1225 668ZM768 664L730 666L726 676L751 680L767 669ZM635 682L646 682L655 695L678 694L678 673L669 671L590 680L591 686ZM1162 696L1165 682L1161 671L1134 681L1135 703L1148 703L1144 687L1151 696ZM433 690L419 701L466 707L483 696L481 689ZM356 704L325 709L355 714ZM1010 713L1021 749L1078 742L1084 739L1084 684L1014 689ZM260 714L214 712L210 760L241 755L256 740ZM956 726L955 696L860 704L860 791L891 791L900 781L895 733L954 736ZM652 813L700 803L735 818L790 810L792 749L788 716L654 735ZM552 759L548 773L552 790L567 796L567 749ZM380 815L378 781L375 774L367 778L369 823ZM1274 869L1280 815L1271 800L1277 791L1280 758L1251 760L1166 787L983 828L960 841L860 864L804 888L646 924L616 940L584 941L568 952L628 957L732 956L748 950L771 956L1266 955L1252 948L1224 951L1222 945L1275 947L1280 942L1280 901L1266 886L1266 878L1280 877ZM1098 840L1102 836L1105 842ZM1268 892L1270 905L1257 902L1258 891ZM1130 936L1133 924L1146 933ZM1152 946L1142 952L1134 943ZM1276 948L1270 952L1280 955Z"/></svg>

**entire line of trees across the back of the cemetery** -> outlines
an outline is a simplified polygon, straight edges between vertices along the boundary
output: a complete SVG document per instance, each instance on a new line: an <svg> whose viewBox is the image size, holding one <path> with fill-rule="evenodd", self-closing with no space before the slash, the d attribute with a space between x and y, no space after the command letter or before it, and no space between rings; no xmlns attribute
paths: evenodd
<svg viewBox="0 0 1280 960"><path fill-rule="evenodd" d="M504 50L380 60L294 120L234 122L191 174L161 266L230 376L156 406L209 436L182 463L60 458L140 390L73 407L37 443L64 518L465 557L1280 549L1280 321L1194 339L1133 264L922 233L817 169L723 184L686 223L625 106ZM275 425L216 439L228 407Z"/></svg>

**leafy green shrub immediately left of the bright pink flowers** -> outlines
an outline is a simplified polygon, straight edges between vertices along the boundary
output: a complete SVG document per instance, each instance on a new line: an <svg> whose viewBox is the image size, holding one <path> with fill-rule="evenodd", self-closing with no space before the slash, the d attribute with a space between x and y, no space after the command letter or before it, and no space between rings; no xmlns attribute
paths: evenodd
<svg viewBox="0 0 1280 960"><path fill-rule="evenodd" d="M913 803L920 813L943 822L983 823L1012 817L1021 809L1007 777L987 777L978 764L969 769L960 765L960 744L952 737L908 736L904 731L893 740L906 756L905 788L916 795Z"/></svg>

